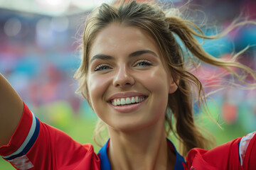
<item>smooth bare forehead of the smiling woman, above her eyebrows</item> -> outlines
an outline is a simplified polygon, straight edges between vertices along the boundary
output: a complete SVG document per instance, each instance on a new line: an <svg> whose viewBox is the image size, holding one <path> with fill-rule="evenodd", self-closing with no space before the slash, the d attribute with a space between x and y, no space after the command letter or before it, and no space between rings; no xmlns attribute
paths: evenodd
<svg viewBox="0 0 256 170"><path fill-rule="evenodd" d="M89 57L98 54L129 55L137 50L151 50L159 55L159 48L149 33L132 26L112 23L97 34Z"/></svg>

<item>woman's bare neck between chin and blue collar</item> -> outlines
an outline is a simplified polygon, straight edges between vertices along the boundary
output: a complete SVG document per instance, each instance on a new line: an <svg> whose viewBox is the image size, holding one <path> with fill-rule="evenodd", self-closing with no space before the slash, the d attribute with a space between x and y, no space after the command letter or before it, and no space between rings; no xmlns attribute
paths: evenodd
<svg viewBox="0 0 256 170"><path fill-rule="evenodd" d="M109 128L108 157L112 169L173 169L176 156L169 152L165 129L148 127L132 132Z"/></svg>

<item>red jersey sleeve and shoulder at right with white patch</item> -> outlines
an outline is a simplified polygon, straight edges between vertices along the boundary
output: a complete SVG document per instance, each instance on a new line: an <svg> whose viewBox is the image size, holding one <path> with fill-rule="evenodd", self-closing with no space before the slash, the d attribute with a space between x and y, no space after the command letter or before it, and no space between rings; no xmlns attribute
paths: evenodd
<svg viewBox="0 0 256 170"><path fill-rule="evenodd" d="M186 157L186 169L255 169L255 134L252 132L209 151L191 149Z"/></svg>

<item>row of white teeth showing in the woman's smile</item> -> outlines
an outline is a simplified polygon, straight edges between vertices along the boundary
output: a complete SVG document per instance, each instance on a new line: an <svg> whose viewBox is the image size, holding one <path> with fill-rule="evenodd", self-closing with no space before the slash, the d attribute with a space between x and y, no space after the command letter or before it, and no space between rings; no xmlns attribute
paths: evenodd
<svg viewBox="0 0 256 170"><path fill-rule="evenodd" d="M113 106L129 106L137 103L142 103L147 96L132 96L127 98L114 98L110 101Z"/></svg>

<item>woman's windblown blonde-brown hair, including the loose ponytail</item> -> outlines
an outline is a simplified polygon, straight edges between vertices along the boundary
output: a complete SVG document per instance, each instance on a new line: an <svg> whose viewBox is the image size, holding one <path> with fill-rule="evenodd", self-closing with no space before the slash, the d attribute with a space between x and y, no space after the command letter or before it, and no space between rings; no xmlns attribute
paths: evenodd
<svg viewBox="0 0 256 170"><path fill-rule="evenodd" d="M170 9L164 13L157 6L136 1L122 1L119 5L114 6L102 4L90 14L86 21L82 37L82 62L74 77L79 82L77 93L81 94L90 105L87 95L88 55L97 33L114 22L124 26L134 26L149 33L156 41L162 60L178 86L174 94L169 94L166 108L166 135L169 135L171 131L174 132L180 141L181 154L186 155L193 147L209 149L211 141L201 134L194 123L193 99L195 97L191 91L191 86L196 86L198 104L207 112L206 94L201 81L186 68L185 58L188 57L188 53L185 53L185 50L188 50L193 56L191 59L194 58L213 66L222 67L228 70L230 74L238 77L243 84L247 84L244 77L234 72L232 67L245 70L254 79L256 79L256 75L249 67L235 62L236 56L230 60L220 60L209 55L195 38L195 36L208 39L219 38L228 31L208 37L198 26L181 18L181 15L177 15L177 13L176 9ZM233 23L228 30L245 23L250 22ZM251 23L255 24L255 22ZM181 40L185 50L178 44L175 36ZM252 85L255 86L255 84ZM173 125L172 117L174 117L175 125ZM102 123L98 123L95 134L101 131ZM96 140L95 142L97 143Z"/></svg>

